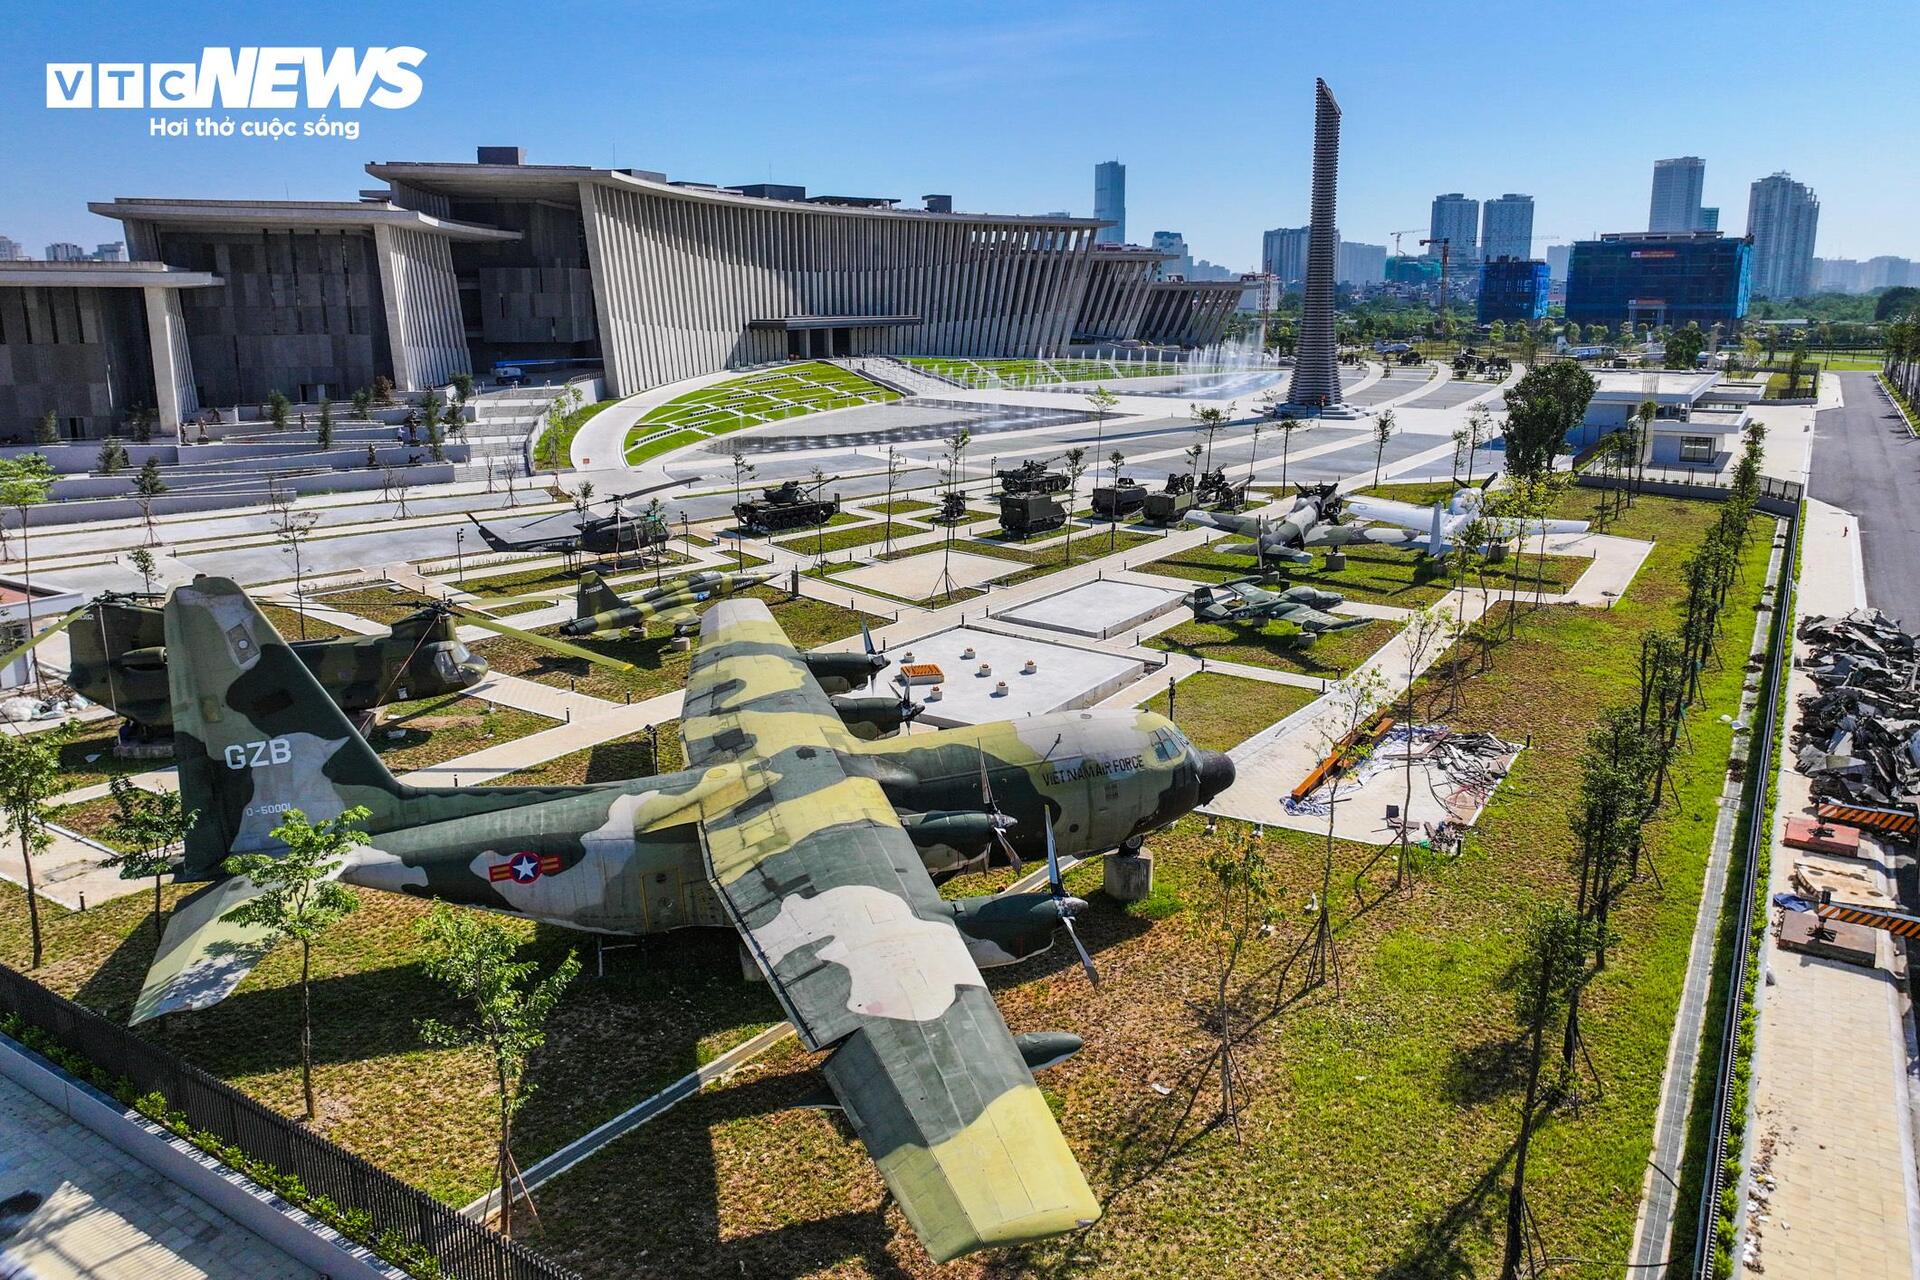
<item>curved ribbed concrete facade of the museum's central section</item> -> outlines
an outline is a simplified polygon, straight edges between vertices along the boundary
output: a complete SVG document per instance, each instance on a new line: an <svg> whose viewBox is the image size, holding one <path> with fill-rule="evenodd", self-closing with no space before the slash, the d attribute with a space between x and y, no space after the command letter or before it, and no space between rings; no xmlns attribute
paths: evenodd
<svg viewBox="0 0 1920 1280"><path fill-rule="evenodd" d="M876 217L580 184L607 384L614 395L785 359L751 320L910 315L852 330L851 355L1064 349L1092 236L1037 223Z"/></svg>

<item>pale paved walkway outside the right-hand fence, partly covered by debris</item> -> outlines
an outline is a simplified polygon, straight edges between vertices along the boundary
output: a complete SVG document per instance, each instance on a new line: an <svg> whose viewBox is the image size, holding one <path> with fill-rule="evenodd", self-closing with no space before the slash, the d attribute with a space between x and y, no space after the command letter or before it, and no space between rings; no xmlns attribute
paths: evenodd
<svg viewBox="0 0 1920 1280"><path fill-rule="evenodd" d="M1807 503L1799 612L1834 614L1866 603L1857 520ZM1795 645L1788 716L1812 689ZM1780 770L1768 896L1789 890L1786 819L1809 812L1809 781L1788 752ZM1889 850L1862 842L1862 862L1897 898ZM1905 965L1893 938L1876 933L1878 960L1859 969L1803 952L1761 946L1743 1226L1768 1280L1914 1280L1920 1276L1920 1192L1914 1182L1910 1048ZM1757 1199L1753 1186L1772 1188Z"/></svg>

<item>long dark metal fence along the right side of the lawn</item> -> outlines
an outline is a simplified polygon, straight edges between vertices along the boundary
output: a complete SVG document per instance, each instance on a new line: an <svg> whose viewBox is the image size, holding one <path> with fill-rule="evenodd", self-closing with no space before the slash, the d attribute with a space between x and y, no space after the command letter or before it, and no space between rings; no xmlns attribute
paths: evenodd
<svg viewBox="0 0 1920 1280"><path fill-rule="evenodd" d="M1786 482L1782 482L1786 484ZM1795 489L1799 486L1793 486ZM1747 844L1745 864L1740 873L1740 927L1734 933L1734 963L1726 984L1726 1013L1720 1023L1720 1073L1713 1090L1713 1130L1707 1138L1707 1155L1701 1171L1705 1180L1699 1192L1699 1221L1693 1228L1693 1278L1715 1280L1715 1228L1718 1224L1720 1192L1726 1186L1728 1138L1734 1123L1734 1071L1736 1050L1740 1046L1740 1023L1747 1007L1747 967L1749 940L1753 935L1755 890L1761 873L1761 844L1774 839L1772 823L1766 821L1766 787L1774 773L1774 716L1780 706L1780 681L1788 666L1788 649L1793 643L1793 587L1795 551L1799 547L1801 512L1795 507L1788 518L1788 545L1780 558L1780 585L1774 589L1772 633L1768 635L1766 687L1761 693L1759 714L1753 718L1753 737L1749 739L1751 758L1747 762ZM1734 1221L1740 1221L1743 1207L1736 1207ZM1738 1230L1736 1230L1738 1236ZM1738 1244L1738 1238L1736 1238ZM1738 1261L1734 1270L1738 1270Z"/></svg>

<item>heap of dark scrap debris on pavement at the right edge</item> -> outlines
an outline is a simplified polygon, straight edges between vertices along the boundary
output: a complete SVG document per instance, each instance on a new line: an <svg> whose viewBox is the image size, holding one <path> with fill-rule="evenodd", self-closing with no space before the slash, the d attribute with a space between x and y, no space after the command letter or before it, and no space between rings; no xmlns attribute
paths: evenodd
<svg viewBox="0 0 1920 1280"><path fill-rule="evenodd" d="M1812 793L1841 804L1920 802L1920 641L1878 608L1801 624L1801 664L1818 691L1801 699L1793 739Z"/></svg>

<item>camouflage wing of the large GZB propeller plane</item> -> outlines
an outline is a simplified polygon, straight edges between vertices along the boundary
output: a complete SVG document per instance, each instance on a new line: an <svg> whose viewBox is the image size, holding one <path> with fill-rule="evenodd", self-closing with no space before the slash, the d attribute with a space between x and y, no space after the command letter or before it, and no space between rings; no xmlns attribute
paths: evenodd
<svg viewBox="0 0 1920 1280"><path fill-rule="evenodd" d="M935 1261L1100 1217L879 785L766 604L707 610L682 741L707 877Z"/></svg>

